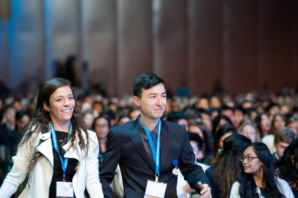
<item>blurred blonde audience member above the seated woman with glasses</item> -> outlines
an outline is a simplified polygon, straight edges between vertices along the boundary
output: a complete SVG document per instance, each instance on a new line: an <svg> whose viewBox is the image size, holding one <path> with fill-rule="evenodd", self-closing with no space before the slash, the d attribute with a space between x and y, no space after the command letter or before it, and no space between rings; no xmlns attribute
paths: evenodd
<svg viewBox="0 0 298 198"><path fill-rule="evenodd" d="M238 127L237 131L240 135L244 135L249 138L252 143L260 142L260 133L255 127L255 123L253 121L244 122Z"/></svg>

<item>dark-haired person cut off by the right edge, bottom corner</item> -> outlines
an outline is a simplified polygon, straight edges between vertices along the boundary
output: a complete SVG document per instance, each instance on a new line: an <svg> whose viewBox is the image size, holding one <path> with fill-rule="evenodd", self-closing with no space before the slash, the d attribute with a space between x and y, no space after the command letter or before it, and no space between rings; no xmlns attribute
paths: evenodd
<svg viewBox="0 0 298 198"><path fill-rule="evenodd" d="M295 197L298 197L298 138L286 148L283 156L275 163L274 175L284 179Z"/></svg>

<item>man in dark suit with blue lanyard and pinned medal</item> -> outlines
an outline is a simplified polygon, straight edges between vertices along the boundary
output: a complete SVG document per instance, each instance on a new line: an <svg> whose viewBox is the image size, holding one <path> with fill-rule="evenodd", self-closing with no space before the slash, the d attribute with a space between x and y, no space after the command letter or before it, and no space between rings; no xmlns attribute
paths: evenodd
<svg viewBox="0 0 298 198"><path fill-rule="evenodd" d="M185 127L160 120L167 103L164 80L155 74L140 74L135 79L133 94L141 114L134 121L111 128L108 149L99 170L104 196L112 197L110 183L119 163L124 197L144 197L147 180L156 179L167 183L164 197L177 197L177 175L172 171L178 167L202 198L211 197L209 180L195 164ZM159 147L160 152L157 152ZM154 156L157 153L160 158ZM176 160L178 167L174 166ZM160 165L159 169L156 164Z"/></svg>

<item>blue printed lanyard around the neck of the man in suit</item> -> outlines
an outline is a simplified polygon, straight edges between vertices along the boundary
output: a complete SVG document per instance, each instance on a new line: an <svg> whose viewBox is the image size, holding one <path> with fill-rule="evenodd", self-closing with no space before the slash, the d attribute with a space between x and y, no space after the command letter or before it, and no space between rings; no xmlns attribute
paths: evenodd
<svg viewBox="0 0 298 198"><path fill-rule="evenodd" d="M160 155L160 130L161 130L161 121L160 121L160 119L158 119L158 132L157 132L156 149L154 147L154 144L153 144L153 141L152 141L152 138L151 138L149 129L144 126L144 124L142 123L142 121L141 121L141 124L144 127L144 129L145 129L145 133L146 133L146 136L148 138L148 142L149 142L149 145L150 145L150 148L151 148L153 159L155 161L155 176L156 176L156 181L157 181L157 178L159 176L159 165L160 165L160 156L159 155Z"/></svg>

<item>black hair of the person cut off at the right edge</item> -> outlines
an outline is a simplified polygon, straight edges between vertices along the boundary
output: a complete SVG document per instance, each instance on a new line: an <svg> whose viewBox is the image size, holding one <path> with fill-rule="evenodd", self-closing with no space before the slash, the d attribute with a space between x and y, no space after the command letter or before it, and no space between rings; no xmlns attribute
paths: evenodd
<svg viewBox="0 0 298 198"><path fill-rule="evenodd" d="M280 176L288 178L292 174L293 164L291 155L294 156L295 161L298 162L298 138L293 140L291 144L285 149L283 156L275 163L275 167L280 168Z"/></svg>

